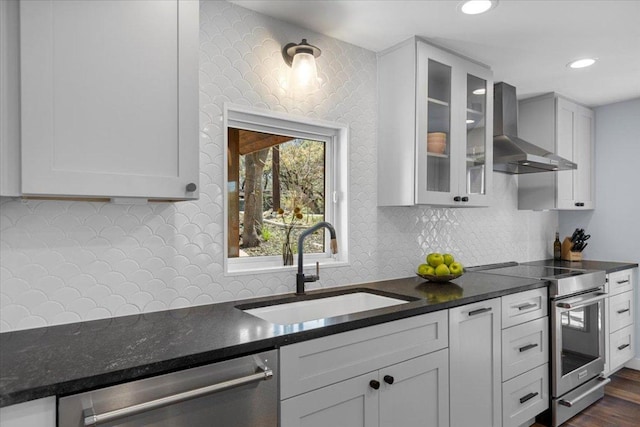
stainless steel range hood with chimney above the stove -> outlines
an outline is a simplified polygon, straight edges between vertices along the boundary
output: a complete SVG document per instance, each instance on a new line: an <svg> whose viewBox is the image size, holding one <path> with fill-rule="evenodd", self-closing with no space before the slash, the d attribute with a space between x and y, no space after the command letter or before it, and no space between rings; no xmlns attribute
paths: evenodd
<svg viewBox="0 0 640 427"><path fill-rule="evenodd" d="M504 82L493 87L493 170L524 174L576 169L578 165L518 138L516 88Z"/></svg>

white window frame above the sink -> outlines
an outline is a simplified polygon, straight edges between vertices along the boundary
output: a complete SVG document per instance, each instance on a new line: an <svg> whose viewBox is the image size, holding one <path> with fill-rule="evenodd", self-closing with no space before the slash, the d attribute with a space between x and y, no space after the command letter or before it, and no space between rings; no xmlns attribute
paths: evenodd
<svg viewBox="0 0 640 427"><path fill-rule="evenodd" d="M292 266L282 265L282 256L238 257L229 254L229 192L228 192L228 129L238 128L255 132L291 136L325 142L325 221L330 222L338 239L338 253L329 252L329 233L325 233L325 252L304 254L305 266L319 262L323 267L344 266L349 263L348 234L348 153L349 128L346 125L305 116L297 116L258 108L224 104L224 274L234 276L259 272L278 272L297 269L298 256ZM293 242L297 245L297 242Z"/></svg>

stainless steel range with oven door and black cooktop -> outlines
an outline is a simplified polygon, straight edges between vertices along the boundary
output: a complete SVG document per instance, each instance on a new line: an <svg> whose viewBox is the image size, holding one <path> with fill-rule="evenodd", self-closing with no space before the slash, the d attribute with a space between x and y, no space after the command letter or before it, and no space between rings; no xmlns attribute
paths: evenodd
<svg viewBox="0 0 640 427"><path fill-rule="evenodd" d="M549 281L551 390L549 423L557 427L604 396L603 271L507 263L484 273Z"/></svg>

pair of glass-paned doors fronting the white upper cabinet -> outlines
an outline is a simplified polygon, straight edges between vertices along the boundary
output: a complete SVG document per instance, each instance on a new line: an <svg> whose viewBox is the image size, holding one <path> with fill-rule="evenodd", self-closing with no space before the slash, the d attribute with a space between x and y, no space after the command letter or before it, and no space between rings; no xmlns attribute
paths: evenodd
<svg viewBox="0 0 640 427"><path fill-rule="evenodd" d="M418 44L416 201L487 206L491 188L493 75Z"/></svg>

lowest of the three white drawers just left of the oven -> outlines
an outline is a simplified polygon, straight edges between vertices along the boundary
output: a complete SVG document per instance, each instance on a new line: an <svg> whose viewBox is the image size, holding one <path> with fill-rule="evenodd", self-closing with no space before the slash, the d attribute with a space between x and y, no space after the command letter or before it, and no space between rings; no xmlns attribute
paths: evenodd
<svg viewBox="0 0 640 427"><path fill-rule="evenodd" d="M549 365L502 384L502 425L517 427L549 408Z"/></svg>

